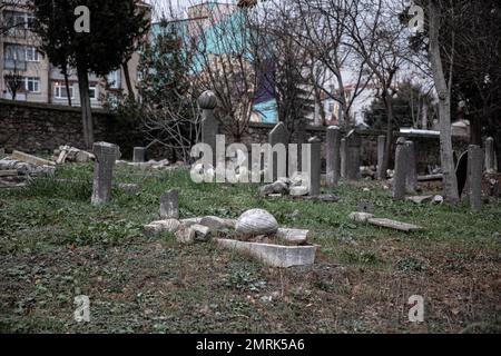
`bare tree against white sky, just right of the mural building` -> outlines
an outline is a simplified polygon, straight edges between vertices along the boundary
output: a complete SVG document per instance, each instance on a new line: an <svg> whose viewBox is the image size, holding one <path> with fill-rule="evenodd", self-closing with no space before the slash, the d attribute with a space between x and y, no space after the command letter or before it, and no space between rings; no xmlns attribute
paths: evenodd
<svg viewBox="0 0 501 356"><path fill-rule="evenodd" d="M338 102L338 121L347 129L353 119L353 105L372 78L370 68L355 56L351 46L350 37L357 24L353 18L358 12L358 1L294 0L294 3L301 21L295 34L297 42L312 57L315 97L320 100L323 93Z"/></svg>

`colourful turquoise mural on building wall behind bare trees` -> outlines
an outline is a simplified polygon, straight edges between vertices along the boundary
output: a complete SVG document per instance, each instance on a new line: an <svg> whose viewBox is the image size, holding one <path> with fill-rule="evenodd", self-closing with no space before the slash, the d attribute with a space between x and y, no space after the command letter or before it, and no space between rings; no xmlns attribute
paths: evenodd
<svg viewBox="0 0 501 356"><path fill-rule="evenodd" d="M194 82L204 82L208 76L216 81L218 71L235 66L242 68L242 73L232 78L233 90L239 101L238 107L245 107L252 101L250 121L275 123L277 121L276 100L273 96L273 83L266 80L264 73L255 73L253 56L248 50L248 29L245 26L242 10L235 6L208 2L189 8L188 19L154 23L151 27L151 44L159 34L175 31L181 38L181 43L202 47L203 51L194 51L191 75ZM228 34L229 33L229 34ZM187 48L189 50L189 48ZM207 65L210 63L210 70ZM271 67L272 68L272 67ZM206 77L204 77L206 76ZM247 77L256 77L252 80ZM224 78L226 80L226 78ZM207 82L208 80L205 80ZM246 82L244 90L242 81ZM252 83L252 86L249 85ZM242 109L242 108L238 108ZM238 110L237 109L237 110Z"/></svg>

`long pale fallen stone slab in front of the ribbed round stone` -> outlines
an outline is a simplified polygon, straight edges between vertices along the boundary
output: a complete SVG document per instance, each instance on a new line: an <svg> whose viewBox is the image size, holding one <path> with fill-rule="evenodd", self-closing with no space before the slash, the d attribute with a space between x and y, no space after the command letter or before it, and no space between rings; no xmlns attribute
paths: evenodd
<svg viewBox="0 0 501 356"><path fill-rule="evenodd" d="M311 266L315 263L316 246L282 246L245 243L230 239L216 239L220 246L248 254L272 267L288 268Z"/></svg>

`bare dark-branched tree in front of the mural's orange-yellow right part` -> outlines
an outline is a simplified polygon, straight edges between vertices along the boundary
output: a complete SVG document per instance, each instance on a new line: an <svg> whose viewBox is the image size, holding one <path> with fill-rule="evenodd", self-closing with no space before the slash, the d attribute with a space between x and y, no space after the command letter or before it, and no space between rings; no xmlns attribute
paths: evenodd
<svg viewBox="0 0 501 356"><path fill-rule="evenodd" d="M254 66L262 93L274 98L278 121L292 134L314 111L314 60L296 41L299 19L287 3L269 2L250 18Z"/></svg>

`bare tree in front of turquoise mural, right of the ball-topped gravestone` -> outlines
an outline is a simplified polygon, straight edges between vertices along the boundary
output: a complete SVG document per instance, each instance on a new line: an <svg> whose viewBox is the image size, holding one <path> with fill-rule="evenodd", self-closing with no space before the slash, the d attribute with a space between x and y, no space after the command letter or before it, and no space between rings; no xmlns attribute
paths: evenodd
<svg viewBox="0 0 501 356"><path fill-rule="evenodd" d="M223 3L199 7L199 13L188 19L183 43L193 53L189 71L198 91L216 93L222 127L239 141L253 115L257 87L248 29L252 9Z"/></svg>

